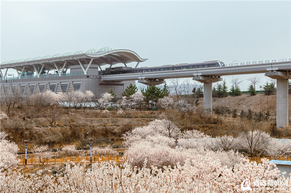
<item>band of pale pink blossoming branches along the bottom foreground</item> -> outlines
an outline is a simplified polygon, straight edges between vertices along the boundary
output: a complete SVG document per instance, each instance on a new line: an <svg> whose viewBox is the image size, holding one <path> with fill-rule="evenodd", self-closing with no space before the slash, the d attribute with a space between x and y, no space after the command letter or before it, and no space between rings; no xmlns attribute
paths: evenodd
<svg viewBox="0 0 291 193"><path fill-rule="evenodd" d="M164 166L158 168L132 167L129 163L121 165L114 163L66 164L62 173L54 175L39 171L22 173L19 170L0 175L1 193L19 192L99 192L99 193L244 193L241 183L244 179L255 180L288 180L282 191L270 193L288 193L291 189L290 179L279 177L279 171L274 164L249 163L242 160L233 168L227 168L218 160L199 156L197 160L177 164L176 167ZM43 174L45 173L45 174ZM14 179L14 180L11 180ZM254 189L253 193L262 191ZM259 185L260 188L264 186ZM273 185L269 187L278 187Z"/></svg>

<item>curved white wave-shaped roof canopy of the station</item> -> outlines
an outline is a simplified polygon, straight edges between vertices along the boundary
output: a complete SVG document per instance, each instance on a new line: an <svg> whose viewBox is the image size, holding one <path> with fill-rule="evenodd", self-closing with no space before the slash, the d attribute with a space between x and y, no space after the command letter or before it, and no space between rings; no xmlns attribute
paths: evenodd
<svg viewBox="0 0 291 193"><path fill-rule="evenodd" d="M143 62L146 59L140 58L135 52L127 49L114 49L112 47L103 47L101 49L90 49L87 51L67 52L65 54L55 54L53 56L36 57L29 59L19 59L2 62L0 69L14 68L21 71L35 71L35 68L44 66L46 70L54 70L56 66L61 68L66 62L66 68L73 65L92 64L103 66L106 64L114 65L118 63Z"/></svg>

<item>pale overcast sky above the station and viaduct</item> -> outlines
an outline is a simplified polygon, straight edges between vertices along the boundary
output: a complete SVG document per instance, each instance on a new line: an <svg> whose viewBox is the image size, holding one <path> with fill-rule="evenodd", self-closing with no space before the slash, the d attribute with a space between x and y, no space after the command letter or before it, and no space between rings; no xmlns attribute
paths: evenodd
<svg viewBox="0 0 291 193"><path fill-rule="evenodd" d="M1 0L0 44L1 62L105 46L148 59L140 66L289 59L291 1Z"/></svg>

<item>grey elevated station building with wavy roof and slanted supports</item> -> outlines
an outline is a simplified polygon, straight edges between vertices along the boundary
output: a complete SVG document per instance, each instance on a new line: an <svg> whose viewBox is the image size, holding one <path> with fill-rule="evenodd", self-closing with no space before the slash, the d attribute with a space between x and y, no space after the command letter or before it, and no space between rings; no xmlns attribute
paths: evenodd
<svg viewBox="0 0 291 193"><path fill-rule="evenodd" d="M100 72L116 64L122 64L118 68L128 68L127 64L137 62L137 67L143 61L146 59L131 50L104 47L1 62L0 95L28 97L46 90L56 93L91 90L99 98L102 93L113 90L116 97L121 97L127 86L135 85L135 81L101 81ZM7 74L8 69L14 69L17 75Z"/></svg>

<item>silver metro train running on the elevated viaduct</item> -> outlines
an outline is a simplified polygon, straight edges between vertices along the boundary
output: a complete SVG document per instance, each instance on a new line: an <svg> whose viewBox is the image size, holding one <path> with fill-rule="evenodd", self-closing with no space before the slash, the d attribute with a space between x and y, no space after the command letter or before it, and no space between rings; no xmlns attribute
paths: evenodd
<svg viewBox="0 0 291 193"><path fill-rule="evenodd" d="M140 68L131 68L131 67L115 67L115 68L106 68L105 71L99 71L99 75L113 75L113 74L131 74L131 73L148 73L156 71L174 71L174 70L187 70L193 68L208 68L208 67L224 67L225 64L222 61L205 61L200 63L184 63L184 64L175 64L175 65L163 65L156 67L140 67Z"/></svg>

